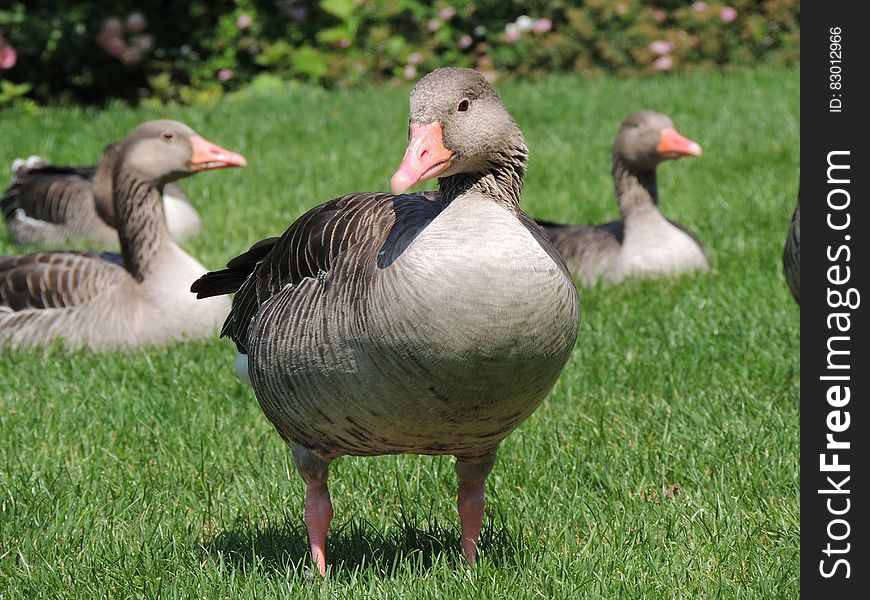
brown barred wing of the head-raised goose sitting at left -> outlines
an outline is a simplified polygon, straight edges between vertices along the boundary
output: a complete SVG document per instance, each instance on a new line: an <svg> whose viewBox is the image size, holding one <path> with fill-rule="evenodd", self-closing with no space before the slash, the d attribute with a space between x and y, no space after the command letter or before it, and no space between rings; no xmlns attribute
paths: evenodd
<svg viewBox="0 0 870 600"><path fill-rule="evenodd" d="M0 306L14 311L84 304L107 279L126 274L120 257L96 252L0 256Z"/></svg>

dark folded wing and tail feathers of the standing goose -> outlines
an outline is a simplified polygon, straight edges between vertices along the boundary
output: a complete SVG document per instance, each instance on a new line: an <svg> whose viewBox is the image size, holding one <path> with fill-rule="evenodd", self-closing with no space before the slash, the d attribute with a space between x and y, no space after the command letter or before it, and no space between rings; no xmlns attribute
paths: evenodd
<svg viewBox="0 0 870 600"><path fill-rule="evenodd" d="M264 240L261 247L255 244L230 261L228 269L204 275L191 289L217 289L230 277L249 273L221 330L222 337L232 338L245 351L251 320L259 307L285 286L323 276L337 260L371 259L372 264L385 266L442 209L437 194L341 196L303 214L279 239ZM394 227L397 222L402 225ZM261 254L267 247L268 252ZM237 272L230 276L228 271L233 269Z"/></svg>

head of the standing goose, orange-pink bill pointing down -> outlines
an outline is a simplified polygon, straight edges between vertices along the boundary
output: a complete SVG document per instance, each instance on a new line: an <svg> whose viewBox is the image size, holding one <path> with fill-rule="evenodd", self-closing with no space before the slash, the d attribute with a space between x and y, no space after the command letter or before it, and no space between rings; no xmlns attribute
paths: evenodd
<svg viewBox="0 0 870 600"><path fill-rule="evenodd" d="M390 179L401 194L433 177L485 173L521 149L523 134L495 90L472 69L432 71L411 91L408 148Z"/></svg>

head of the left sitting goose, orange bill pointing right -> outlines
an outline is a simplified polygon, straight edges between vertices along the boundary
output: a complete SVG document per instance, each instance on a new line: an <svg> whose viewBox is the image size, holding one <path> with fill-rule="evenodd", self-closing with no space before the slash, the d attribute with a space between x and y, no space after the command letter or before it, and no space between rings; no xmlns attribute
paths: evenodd
<svg viewBox="0 0 870 600"><path fill-rule="evenodd" d="M199 171L243 167L245 157L221 148L178 121L147 121L131 131L120 149L120 168L162 186Z"/></svg>

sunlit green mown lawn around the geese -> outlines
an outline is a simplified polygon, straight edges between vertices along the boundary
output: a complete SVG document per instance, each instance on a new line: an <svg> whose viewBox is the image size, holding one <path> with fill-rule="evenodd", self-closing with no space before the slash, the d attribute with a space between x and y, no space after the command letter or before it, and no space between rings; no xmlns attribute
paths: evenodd
<svg viewBox="0 0 870 600"><path fill-rule="evenodd" d="M714 266L581 292L572 360L489 478L478 564L458 552L452 459L343 458L331 573L306 577L302 481L227 340L7 352L0 598L797 597L800 311L780 256L798 187L798 71L497 87L531 152L524 207L551 220L614 218L619 122L669 113L704 154L660 169L661 204ZM205 222L187 247L220 267L314 204L386 189L407 89L4 113L0 165L92 161L158 116L249 160L186 180ZM19 251L0 234L0 252Z"/></svg>

